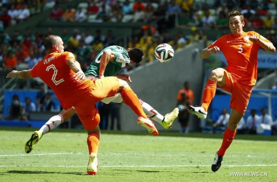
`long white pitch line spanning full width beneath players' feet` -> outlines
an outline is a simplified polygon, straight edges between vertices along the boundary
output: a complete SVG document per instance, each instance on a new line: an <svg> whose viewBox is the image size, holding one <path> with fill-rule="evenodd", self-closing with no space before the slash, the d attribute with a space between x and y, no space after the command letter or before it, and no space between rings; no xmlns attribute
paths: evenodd
<svg viewBox="0 0 277 182"><path fill-rule="evenodd" d="M210 167L211 165L103 165L101 167ZM225 165L224 167L257 167L257 166L277 166L277 164L254 164L254 165ZM87 167L74 165L0 165L0 167Z"/></svg>

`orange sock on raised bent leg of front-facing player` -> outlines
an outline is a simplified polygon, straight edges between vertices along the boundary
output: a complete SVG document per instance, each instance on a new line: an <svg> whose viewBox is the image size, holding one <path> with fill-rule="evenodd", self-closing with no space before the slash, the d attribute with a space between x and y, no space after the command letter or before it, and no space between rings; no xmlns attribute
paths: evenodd
<svg viewBox="0 0 277 182"><path fill-rule="evenodd" d="M203 90L203 97L202 97L201 106L204 108L205 111L207 111L207 108L209 107L212 99L215 97L216 89L217 89L217 82L209 79Z"/></svg>

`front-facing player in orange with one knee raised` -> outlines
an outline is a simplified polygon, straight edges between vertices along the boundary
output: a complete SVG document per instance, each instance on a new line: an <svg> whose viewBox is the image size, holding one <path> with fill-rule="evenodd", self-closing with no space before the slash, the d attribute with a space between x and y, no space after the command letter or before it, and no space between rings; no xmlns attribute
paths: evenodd
<svg viewBox="0 0 277 182"><path fill-rule="evenodd" d="M237 125L244 115L253 86L257 79L257 54L259 47L268 52L275 52L273 44L254 31L244 32L243 15L239 11L232 11L228 15L231 34L217 39L212 45L200 52L201 58L207 58L212 53L222 51L227 59L227 68L217 68L211 72L203 90L201 106L189 106L192 114L200 119L206 118L207 108L215 96L216 88L219 87L231 93L230 117L223 142L216 153L212 164L212 170L216 172L223 156L231 145L236 134Z"/></svg>

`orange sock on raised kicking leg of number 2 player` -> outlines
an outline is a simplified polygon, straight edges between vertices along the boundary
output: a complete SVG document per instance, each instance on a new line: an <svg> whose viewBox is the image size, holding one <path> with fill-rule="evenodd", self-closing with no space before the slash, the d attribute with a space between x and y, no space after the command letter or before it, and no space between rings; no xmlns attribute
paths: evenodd
<svg viewBox="0 0 277 182"><path fill-rule="evenodd" d="M144 109L140 103L140 100L137 98L135 93L130 87L126 87L120 92L121 97L125 104L127 104L131 109L138 115L143 116L144 118L148 118L144 113Z"/></svg>

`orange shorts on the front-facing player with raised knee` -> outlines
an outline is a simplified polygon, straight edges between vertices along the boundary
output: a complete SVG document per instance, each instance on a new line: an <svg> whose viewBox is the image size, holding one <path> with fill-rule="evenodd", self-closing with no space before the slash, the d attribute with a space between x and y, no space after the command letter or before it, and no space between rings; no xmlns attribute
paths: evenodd
<svg viewBox="0 0 277 182"><path fill-rule="evenodd" d="M245 85L239 83L232 73L224 70L225 85L219 87L229 93L231 93L230 107L236 109L239 113L244 115L246 111L253 85Z"/></svg>

